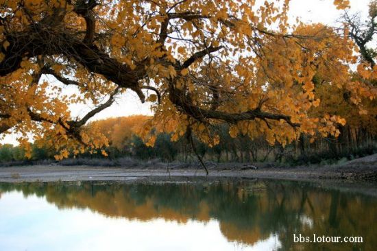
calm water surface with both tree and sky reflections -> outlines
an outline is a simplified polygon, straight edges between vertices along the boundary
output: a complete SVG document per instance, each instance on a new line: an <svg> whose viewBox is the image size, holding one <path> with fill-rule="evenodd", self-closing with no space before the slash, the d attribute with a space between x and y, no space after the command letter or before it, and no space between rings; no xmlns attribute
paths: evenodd
<svg viewBox="0 0 377 251"><path fill-rule="evenodd" d="M377 250L376 209L304 182L0 183L0 250Z"/></svg>

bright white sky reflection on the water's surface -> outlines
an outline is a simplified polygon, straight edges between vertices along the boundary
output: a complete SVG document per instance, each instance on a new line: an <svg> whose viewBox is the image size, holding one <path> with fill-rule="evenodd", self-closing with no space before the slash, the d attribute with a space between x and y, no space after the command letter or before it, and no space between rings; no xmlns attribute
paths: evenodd
<svg viewBox="0 0 377 251"><path fill-rule="evenodd" d="M44 198L3 193L0 250L275 250L271 235L254 246L228 242L219 222L186 224L110 218L89 209L59 210Z"/></svg>

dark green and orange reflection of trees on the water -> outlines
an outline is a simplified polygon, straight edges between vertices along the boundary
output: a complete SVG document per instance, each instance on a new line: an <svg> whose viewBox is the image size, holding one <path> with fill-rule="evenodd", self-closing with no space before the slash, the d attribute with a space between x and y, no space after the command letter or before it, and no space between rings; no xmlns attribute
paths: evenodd
<svg viewBox="0 0 377 251"><path fill-rule="evenodd" d="M63 209L88 208L107 217L219 224L228 242L252 246L278 238L281 250L374 250L376 198L300 182L186 184L0 183L1 193L37 195ZM4 194L3 194L4 195ZM163 231L163 230L160 230ZM293 234L361 236L363 243L293 243Z"/></svg>

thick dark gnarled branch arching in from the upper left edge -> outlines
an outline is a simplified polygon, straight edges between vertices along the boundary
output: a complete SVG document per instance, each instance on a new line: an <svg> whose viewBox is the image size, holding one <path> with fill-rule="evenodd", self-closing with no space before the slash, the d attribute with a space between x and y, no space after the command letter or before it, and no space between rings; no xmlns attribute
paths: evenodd
<svg viewBox="0 0 377 251"><path fill-rule="evenodd" d="M5 51L5 58L0 62L0 76L19 69L23 58L60 54L76 60L90 72L103 75L123 88L132 89L142 102L145 101L145 95L138 84L138 80L145 76L143 64L131 69L127 64L110 58L95 45L85 45L70 34L55 33L38 25L34 25L33 29L8 34L7 40L10 45Z"/></svg>

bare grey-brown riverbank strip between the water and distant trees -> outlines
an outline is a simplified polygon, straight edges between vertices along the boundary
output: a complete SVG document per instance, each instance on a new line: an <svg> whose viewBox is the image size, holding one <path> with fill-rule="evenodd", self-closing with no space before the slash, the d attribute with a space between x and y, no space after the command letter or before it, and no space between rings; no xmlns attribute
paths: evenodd
<svg viewBox="0 0 377 251"><path fill-rule="evenodd" d="M256 169L257 168L257 169ZM377 181L377 154L358 158L341 165L271 167L223 163L209 165L209 175L204 169L185 165L158 165L145 167L93 167L33 165L0 168L0 182L53 182L108 180L127 181L139 179L163 180L171 177L206 178L271 178L282 180L367 180Z"/></svg>

